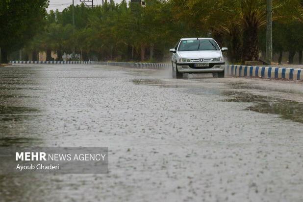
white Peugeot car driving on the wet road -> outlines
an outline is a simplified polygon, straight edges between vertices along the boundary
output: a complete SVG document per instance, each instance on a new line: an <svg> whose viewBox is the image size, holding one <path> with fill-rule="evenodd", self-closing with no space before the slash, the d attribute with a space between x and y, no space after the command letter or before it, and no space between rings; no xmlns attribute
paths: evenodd
<svg viewBox="0 0 303 202"><path fill-rule="evenodd" d="M173 78L183 78L183 73L213 73L214 77L224 77L225 61L217 42L212 38L180 39L171 48Z"/></svg>

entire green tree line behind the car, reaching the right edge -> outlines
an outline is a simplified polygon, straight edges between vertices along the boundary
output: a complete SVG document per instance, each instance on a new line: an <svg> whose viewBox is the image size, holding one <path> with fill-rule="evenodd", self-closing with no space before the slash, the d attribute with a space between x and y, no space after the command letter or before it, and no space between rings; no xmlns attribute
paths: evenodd
<svg viewBox="0 0 303 202"><path fill-rule="evenodd" d="M274 52L298 51L302 61L303 0L273 0ZM105 1L51 11L25 50L80 54L82 60L163 61L182 37L213 37L230 62L258 59L265 50L266 0L147 0L146 7ZM20 46L20 45L18 45ZM75 58L73 58L75 59Z"/></svg>

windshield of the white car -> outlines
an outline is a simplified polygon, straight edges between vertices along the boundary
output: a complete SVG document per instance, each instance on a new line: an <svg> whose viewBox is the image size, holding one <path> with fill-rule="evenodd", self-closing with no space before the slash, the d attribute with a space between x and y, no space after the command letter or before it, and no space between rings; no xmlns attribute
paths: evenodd
<svg viewBox="0 0 303 202"><path fill-rule="evenodd" d="M178 51L192 51L192 50L220 50L214 40L182 40Z"/></svg>

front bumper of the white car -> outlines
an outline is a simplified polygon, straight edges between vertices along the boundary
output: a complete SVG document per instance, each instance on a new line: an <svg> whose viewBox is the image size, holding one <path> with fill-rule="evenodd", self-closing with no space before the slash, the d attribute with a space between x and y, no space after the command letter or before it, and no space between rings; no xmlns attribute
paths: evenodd
<svg viewBox="0 0 303 202"><path fill-rule="evenodd" d="M224 71L225 63L209 63L209 67L195 67L194 63L177 63L180 73L211 73Z"/></svg>

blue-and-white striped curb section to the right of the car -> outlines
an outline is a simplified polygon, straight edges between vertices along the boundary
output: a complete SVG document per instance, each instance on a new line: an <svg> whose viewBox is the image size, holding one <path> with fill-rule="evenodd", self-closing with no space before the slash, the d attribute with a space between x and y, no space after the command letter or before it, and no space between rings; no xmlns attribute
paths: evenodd
<svg viewBox="0 0 303 202"><path fill-rule="evenodd" d="M301 68L226 65L225 71L227 75L238 77L303 80L303 69Z"/></svg>

